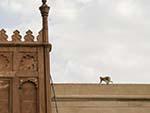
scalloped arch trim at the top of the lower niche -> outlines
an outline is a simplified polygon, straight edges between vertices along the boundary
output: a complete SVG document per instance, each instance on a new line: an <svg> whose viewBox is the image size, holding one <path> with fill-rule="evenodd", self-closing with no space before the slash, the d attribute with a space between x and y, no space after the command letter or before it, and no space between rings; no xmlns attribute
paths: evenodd
<svg viewBox="0 0 150 113"><path fill-rule="evenodd" d="M36 88L38 88L38 80L37 78L25 78L25 79L20 79L20 84L19 84L19 89L22 89L23 84L25 83L33 83Z"/></svg>

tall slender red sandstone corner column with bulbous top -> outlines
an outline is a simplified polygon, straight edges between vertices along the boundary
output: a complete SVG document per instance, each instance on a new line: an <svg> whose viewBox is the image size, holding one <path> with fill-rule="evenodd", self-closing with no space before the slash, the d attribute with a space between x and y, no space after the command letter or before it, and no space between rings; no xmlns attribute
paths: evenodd
<svg viewBox="0 0 150 113"><path fill-rule="evenodd" d="M42 0L42 6L40 7L42 15L42 43L48 44L48 13L50 7L46 4L46 0ZM50 65L49 65L49 48L43 47L44 55L44 85L45 85L45 111L51 113L51 86L50 86Z"/></svg>

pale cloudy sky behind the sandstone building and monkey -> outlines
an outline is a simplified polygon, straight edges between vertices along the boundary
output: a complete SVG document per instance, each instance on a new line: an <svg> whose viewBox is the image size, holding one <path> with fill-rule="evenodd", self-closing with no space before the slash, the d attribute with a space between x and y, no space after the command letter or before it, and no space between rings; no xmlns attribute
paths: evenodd
<svg viewBox="0 0 150 113"><path fill-rule="evenodd" d="M150 83L150 0L49 0L54 82ZM0 0L9 36L41 29L41 0Z"/></svg>

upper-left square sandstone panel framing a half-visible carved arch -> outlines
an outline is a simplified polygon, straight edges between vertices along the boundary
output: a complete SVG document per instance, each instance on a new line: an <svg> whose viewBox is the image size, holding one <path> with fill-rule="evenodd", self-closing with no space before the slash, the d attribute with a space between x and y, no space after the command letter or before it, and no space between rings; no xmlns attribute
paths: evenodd
<svg viewBox="0 0 150 113"><path fill-rule="evenodd" d="M12 53L0 52L0 72L12 71Z"/></svg>

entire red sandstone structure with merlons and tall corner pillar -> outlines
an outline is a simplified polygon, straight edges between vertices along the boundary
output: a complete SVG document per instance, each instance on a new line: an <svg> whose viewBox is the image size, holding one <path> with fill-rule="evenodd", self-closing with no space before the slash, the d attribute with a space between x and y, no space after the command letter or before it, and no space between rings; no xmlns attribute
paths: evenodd
<svg viewBox="0 0 150 113"><path fill-rule="evenodd" d="M28 30L15 30L8 39L0 30L0 113L51 113L48 11L40 7L42 32L35 39ZM37 40L37 41L36 41Z"/></svg>

